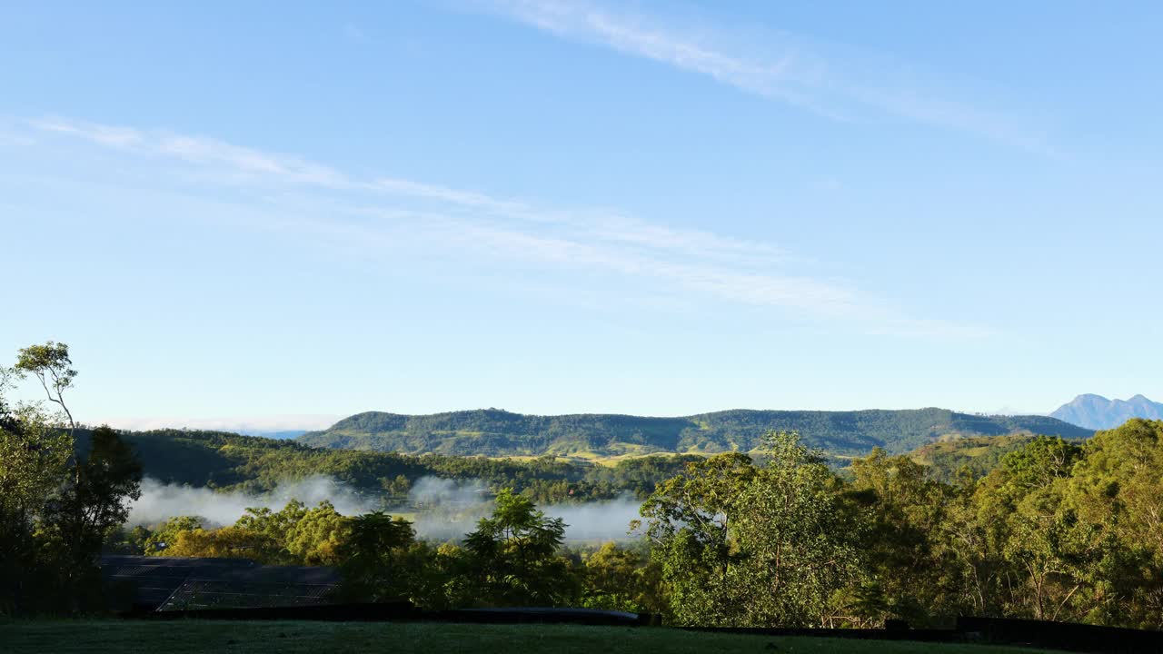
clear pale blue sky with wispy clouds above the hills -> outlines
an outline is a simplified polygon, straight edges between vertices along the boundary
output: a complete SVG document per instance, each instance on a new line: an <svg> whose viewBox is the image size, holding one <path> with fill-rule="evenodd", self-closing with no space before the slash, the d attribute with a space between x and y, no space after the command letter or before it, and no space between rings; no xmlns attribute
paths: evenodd
<svg viewBox="0 0 1163 654"><path fill-rule="evenodd" d="M83 421L1163 398L1157 2L6 2ZM35 399L23 384L16 397Z"/></svg>

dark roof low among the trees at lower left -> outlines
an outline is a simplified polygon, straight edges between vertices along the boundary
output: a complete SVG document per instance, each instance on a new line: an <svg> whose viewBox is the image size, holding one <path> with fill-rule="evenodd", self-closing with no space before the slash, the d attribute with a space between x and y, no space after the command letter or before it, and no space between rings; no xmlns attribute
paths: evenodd
<svg viewBox="0 0 1163 654"><path fill-rule="evenodd" d="M334 568L245 559L110 555L101 557L101 575L130 587L134 607L157 611L327 604L340 583Z"/></svg>

